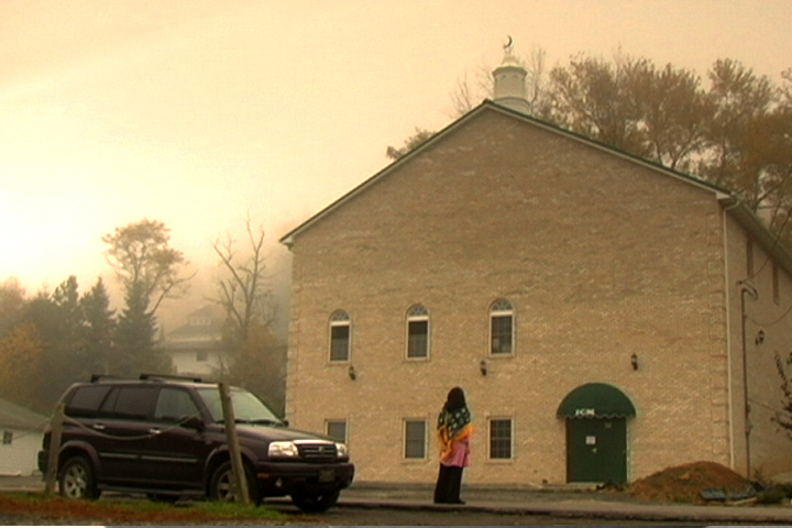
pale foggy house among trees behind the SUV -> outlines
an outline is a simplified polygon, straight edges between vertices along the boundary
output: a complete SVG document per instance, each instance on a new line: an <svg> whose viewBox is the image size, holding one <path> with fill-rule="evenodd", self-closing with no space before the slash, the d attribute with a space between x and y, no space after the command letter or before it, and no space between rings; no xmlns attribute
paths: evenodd
<svg viewBox="0 0 792 528"><path fill-rule="evenodd" d="M227 367L223 321L222 310L206 306L189 314L185 324L166 333L161 346L170 356L176 374L211 377Z"/></svg>

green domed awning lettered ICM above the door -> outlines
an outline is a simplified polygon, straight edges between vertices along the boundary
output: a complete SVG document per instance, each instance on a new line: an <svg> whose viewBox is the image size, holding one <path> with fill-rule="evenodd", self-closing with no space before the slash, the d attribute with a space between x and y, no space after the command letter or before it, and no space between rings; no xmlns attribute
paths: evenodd
<svg viewBox="0 0 792 528"><path fill-rule="evenodd" d="M556 414L560 418L625 418L635 416L635 407L613 385L586 383L569 393Z"/></svg>

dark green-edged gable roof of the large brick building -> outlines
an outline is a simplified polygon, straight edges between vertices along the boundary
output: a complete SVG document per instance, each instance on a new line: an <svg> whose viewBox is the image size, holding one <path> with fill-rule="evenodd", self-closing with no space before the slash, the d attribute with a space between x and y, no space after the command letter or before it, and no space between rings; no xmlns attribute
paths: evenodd
<svg viewBox="0 0 792 528"><path fill-rule="evenodd" d="M385 166L382 170L375 173L373 176L354 187L352 190L346 193L345 195L341 196L339 199L327 206L324 209L320 210L312 217L310 217L305 222L300 223L286 234L284 234L278 241L286 245L287 248L290 248L292 244L294 244L294 239L302 233L304 231L307 231L310 229L315 223L322 220L328 215L332 213L336 209L342 207L346 201L352 199L353 197L360 195L361 193L364 193L369 187L371 187L374 183L378 182L382 178L386 178L392 173L396 172L402 165L409 162L411 158L418 156L424 152L425 150L429 148L435 143L443 140L446 136L451 134L453 131L458 130L461 127L464 127L470 121L476 119L479 116L481 116L484 112L488 111L495 111L499 112L502 114L509 116L514 119L521 120L524 122L530 123L535 127L538 127L542 130L546 130L548 132L562 135L564 138L571 139L578 143L587 145L590 147L597 148L600 151L603 151L605 153L608 153L613 156L620 157L623 160L627 160L631 163L635 163L637 165L650 168L657 173L660 173L664 176L678 179L680 182L683 182L688 185L697 187L703 190L707 190L713 193L714 198L721 202L721 205L726 208L726 210L738 221L738 223L754 237L759 244L762 246L762 249L770 255L772 255L779 263L781 267L783 267L790 275L792 275L792 254L784 248L782 244L779 243L778 238L774 237L754 215L754 212L748 209L745 204L740 200L740 198L733 193L729 189L726 189L724 187L716 186L714 184L711 184L708 182L704 182L703 179L698 179L692 175L681 173L679 170L674 170L672 168L666 167L657 162L652 162L646 158L642 158L640 156L637 156L635 154L630 154L628 152L615 148L613 146L606 145L605 143L601 143L598 141L592 140L590 138L586 138L584 135L578 134L575 132L571 132L569 130L562 129L556 124L549 123L547 121L542 121L539 119L536 119L534 117L527 116L525 113L518 112L516 110L512 110L509 108L506 108L504 106L501 106L496 102L493 102L488 99L485 99L481 105L479 105L476 108L471 110L470 112L465 113L458 120L451 122L446 128L437 132L435 135L432 135L430 139L405 154L404 156L399 157L395 162L391 163L389 165Z"/></svg>

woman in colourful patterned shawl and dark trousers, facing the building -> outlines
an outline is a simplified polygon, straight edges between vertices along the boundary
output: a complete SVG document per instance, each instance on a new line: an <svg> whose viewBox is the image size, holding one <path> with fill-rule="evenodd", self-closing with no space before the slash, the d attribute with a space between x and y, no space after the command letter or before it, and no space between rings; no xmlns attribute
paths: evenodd
<svg viewBox="0 0 792 528"><path fill-rule="evenodd" d="M471 414L462 388L454 387L438 416L437 437L440 448L440 474L435 486L436 504L464 504L460 498L462 470L468 468Z"/></svg>

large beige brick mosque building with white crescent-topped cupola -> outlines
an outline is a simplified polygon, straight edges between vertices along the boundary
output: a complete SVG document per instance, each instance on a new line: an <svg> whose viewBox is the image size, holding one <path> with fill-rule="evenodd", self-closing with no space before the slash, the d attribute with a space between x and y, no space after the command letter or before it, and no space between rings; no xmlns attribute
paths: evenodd
<svg viewBox="0 0 792 528"><path fill-rule="evenodd" d="M726 189L525 114L525 76L507 54L493 101L280 239L290 422L359 481L432 482L459 385L470 483L788 471L790 253Z"/></svg>

